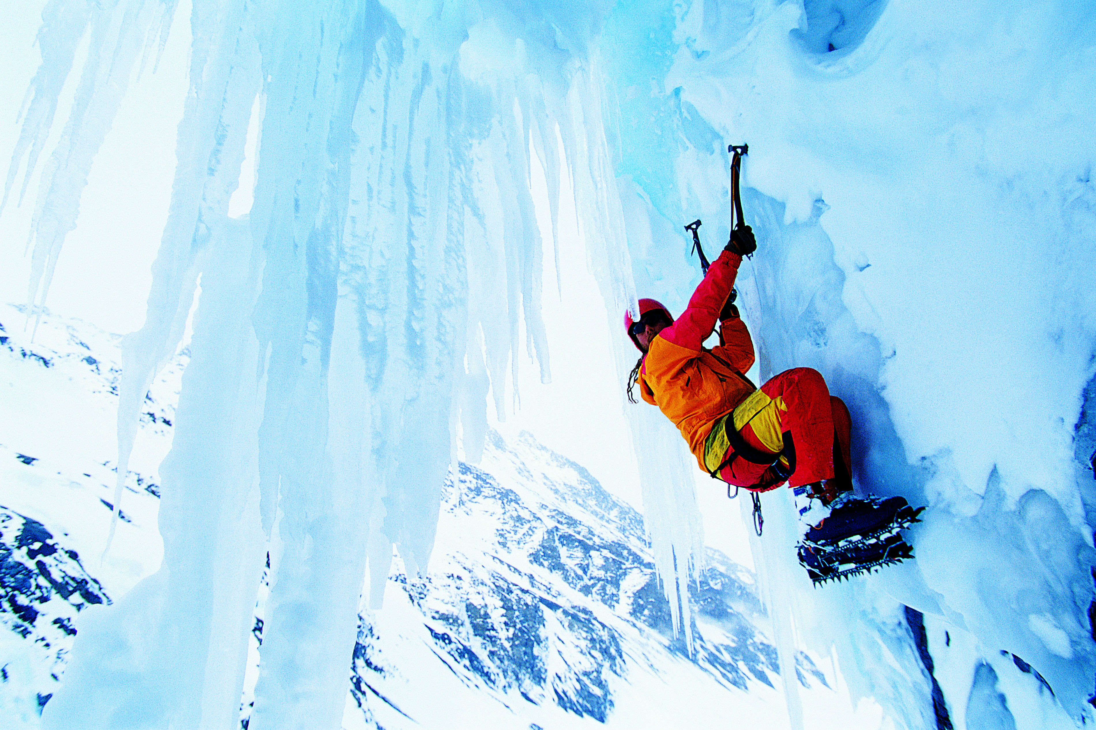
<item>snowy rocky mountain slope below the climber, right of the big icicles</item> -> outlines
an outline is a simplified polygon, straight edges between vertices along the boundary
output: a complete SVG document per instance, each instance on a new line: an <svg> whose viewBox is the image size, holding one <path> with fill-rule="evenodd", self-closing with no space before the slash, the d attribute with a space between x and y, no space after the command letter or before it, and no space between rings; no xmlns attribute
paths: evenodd
<svg viewBox="0 0 1096 730"><path fill-rule="evenodd" d="M499 723L487 727L524 727L515 725L523 718L576 727L583 717L633 726L640 688L651 695L643 712L672 723L681 708L671 703L660 712L650 699L669 700L683 679L704 688L694 699L700 708L689 711L712 718L776 695L776 652L760 628L752 576L709 552L693 594L688 661L639 514L530 434L510 444L492 436L482 463L459 464L446 483L442 509L427 575L397 571L385 611L363 622L353 694L367 720L412 727L399 708L427 727L482 727L464 712L446 722L449 708L424 706L412 679L421 660L409 665L393 639L426 647L427 671L452 671L454 690L464 686L454 694L496 700ZM797 663L806 686L829 686L806 654Z"/></svg>

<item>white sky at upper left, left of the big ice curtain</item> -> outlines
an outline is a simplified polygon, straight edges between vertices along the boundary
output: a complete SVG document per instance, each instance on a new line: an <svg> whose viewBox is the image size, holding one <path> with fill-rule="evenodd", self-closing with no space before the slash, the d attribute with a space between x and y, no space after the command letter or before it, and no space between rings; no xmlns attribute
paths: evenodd
<svg viewBox="0 0 1096 730"><path fill-rule="evenodd" d="M39 60L34 46L45 3L9 3L0 28L0 67L5 69L0 94L0 159L7 163L19 136L16 117L28 81ZM178 12L189 13L187 8ZM180 14L178 18L185 19ZM92 166L80 206L77 229L65 242L46 305L109 332L126 333L145 320L150 267L167 218L174 170L174 129L186 94L185 59L190 43L186 23L169 38L164 61L134 80L123 107ZM85 44L78 50L87 53ZM77 74L73 74L77 76ZM55 117L53 149L60 124L68 116L76 80L70 78ZM8 164L3 169L8 171ZM19 205L22 170L12 196L0 213L0 293L5 301L24 302L30 257L26 251L37 177Z"/></svg>

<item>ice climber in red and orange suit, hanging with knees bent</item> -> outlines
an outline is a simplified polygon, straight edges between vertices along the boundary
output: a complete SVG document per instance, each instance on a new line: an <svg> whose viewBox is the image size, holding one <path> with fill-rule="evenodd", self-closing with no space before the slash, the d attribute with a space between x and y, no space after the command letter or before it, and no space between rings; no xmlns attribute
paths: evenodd
<svg viewBox="0 0 1096 730"><path fill-rule="evenodd" d="M756 247L749 225L735 228L676 320L653 299L639 300L639 320L625 315L642 352L628 397L635 402L638 385L711 476L755 493L788 482L803 528L800 561L815 582L911 557L899 531L921 510L901 497L853 497L848 408L822 375L794 368L760 389L745 375L753 341L731 291L742 257ZM721 344L707 349L717 322Z"/></svg>

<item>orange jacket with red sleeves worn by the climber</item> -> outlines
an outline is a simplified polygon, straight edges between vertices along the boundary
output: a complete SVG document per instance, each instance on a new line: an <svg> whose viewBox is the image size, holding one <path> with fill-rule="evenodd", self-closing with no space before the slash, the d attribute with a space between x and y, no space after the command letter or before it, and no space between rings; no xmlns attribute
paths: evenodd
<svg viewBox="0 0 1096 730"><path fill-rule="evenodd" d="M681 429L705 471L704 443L712 422L757 390L744 374L754 362L754 349L742 320L724 320L720 329L724 344L704 348L741 263L741 256L728 251L711 263L688 308L654 338L639 371L643 399L659 406Z"/></svg>

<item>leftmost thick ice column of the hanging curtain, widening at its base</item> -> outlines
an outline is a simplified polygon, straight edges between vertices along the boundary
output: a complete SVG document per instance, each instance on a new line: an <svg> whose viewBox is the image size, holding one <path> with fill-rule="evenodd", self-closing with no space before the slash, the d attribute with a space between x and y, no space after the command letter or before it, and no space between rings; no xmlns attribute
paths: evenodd
<svg viewBox="0 0 1096 730"><path fill-rule="evenodd" d="M241 304L254 301L262 259L247 227L229 225L226 212L259 67L250 31L241 34L243 3L195 2L193 13L181 164L146 323L123 341L118 417L121 490L148 382L176 347L204 273L183 420L162 470L164 564L110 616L81 627L70 679L44 714L47 727L129 727L138 712L152 723L217 727L238 715L241 631L251 623L264 554L253 489L258 345ZM254 521L240 521L241 513ZM104 654L118 657L112 671L99 664ZM133 676L141 681L125 679Z"/></svg>

